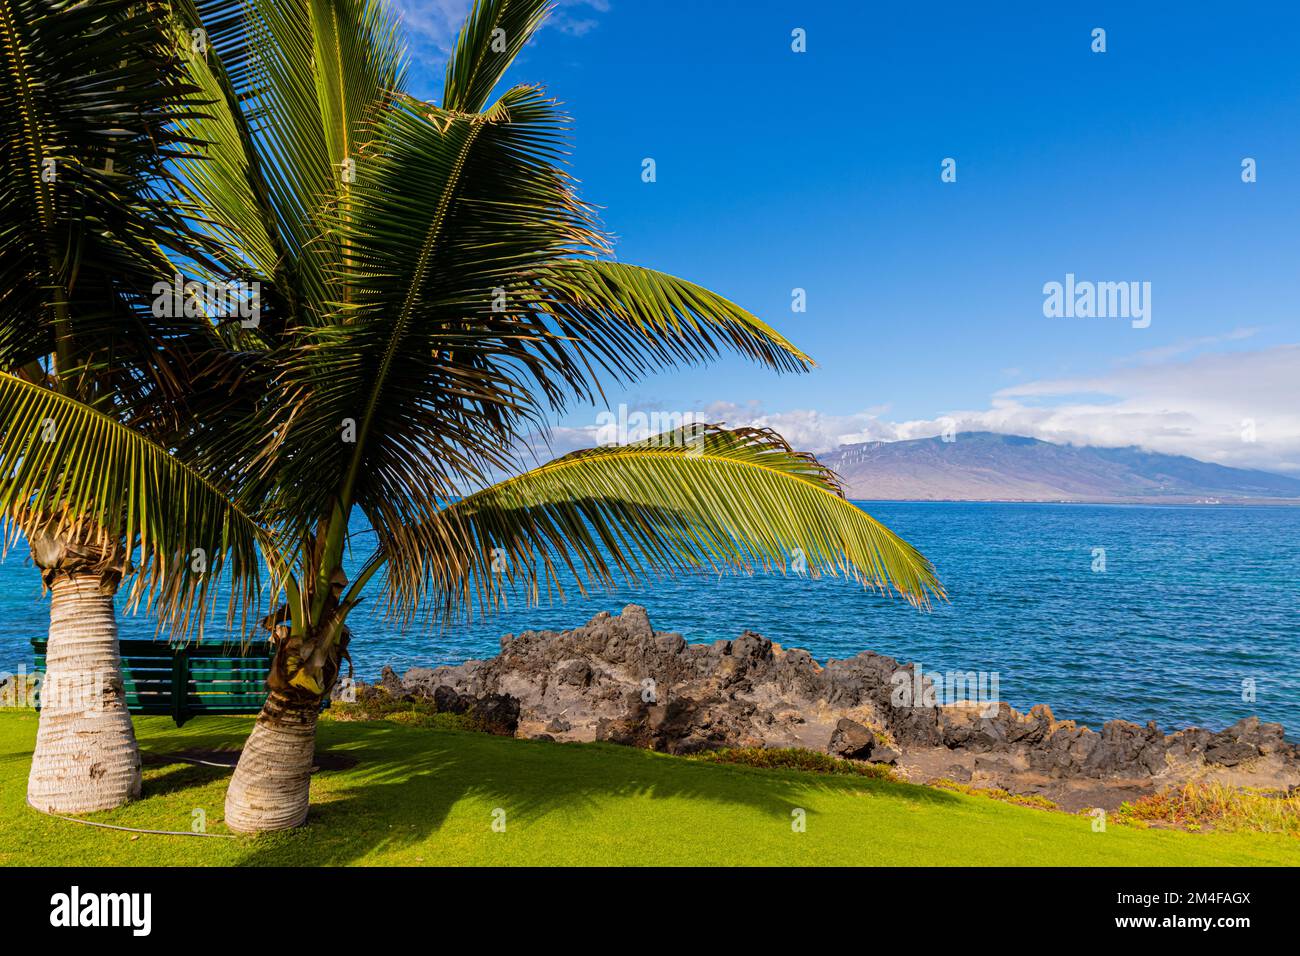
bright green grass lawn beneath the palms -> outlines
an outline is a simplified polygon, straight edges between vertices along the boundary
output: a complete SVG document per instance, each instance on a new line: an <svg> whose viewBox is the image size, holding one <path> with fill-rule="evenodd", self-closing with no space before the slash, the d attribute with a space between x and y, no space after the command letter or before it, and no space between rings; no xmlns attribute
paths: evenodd
<svg viewBox="0 0 1300 956"><path fill-rule="evenodd" d="M237 748L250 718L182 728L136 718L146 753ZM551 744L387 722L322 722L358 760L312 780L308 825L239 839L153 836L55 819L25 803L36 715L0 710L0 864L30 865L1295 865L1274 834L1112 825L857 777L703 763L610 744ZM229 771L146 765L144 797L90 819L225 832ZM806 830L792 830L802 809ZM493 830L504 810L504 832Z"/></svg>

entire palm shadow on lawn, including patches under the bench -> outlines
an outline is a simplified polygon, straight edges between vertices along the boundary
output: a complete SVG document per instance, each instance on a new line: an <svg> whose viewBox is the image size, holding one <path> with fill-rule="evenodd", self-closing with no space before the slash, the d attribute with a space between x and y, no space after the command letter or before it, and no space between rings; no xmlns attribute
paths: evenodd
<svg viewBox="0 0 1300 956"><path fill-rule="evenodd" d="M251 731L252 721L244 718L203 718L181 728L168 718L136 718L142 750L150 754L144 800L161 799L160 809L166 809L168 801L183 801L188 790L224 786L229 770L176 762L174 754L238 748ZM516 740L386 722L325 721L317 753L358 762L313 777L307 826L240 839L234 844L238 857L229 862L338 866L400 853L437 839L465 800L503 808L511 826L550 814L581 821L607 812L611 799L632 801L627 813L637 812L636 801L681 800L720 810L748 809L780 821L789 821L796 806L815 818L816 795L828 793L867 793L931 806L959 803L945 791L866 777L758 770L616 744ZM30 745L0 754L4 763L21 761L26 766L30 760ZM13 774L13 767L8 773ZM212 821L217 822L216 814ZM485 831L489 825L485 816Z"/></svg>

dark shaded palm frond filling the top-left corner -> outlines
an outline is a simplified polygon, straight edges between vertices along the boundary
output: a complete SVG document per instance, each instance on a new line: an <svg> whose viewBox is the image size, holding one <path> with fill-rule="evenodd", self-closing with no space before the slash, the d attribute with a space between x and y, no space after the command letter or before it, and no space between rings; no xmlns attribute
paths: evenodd
<svg viewBox="0 0 1300 956"><path fill-rule="evenodd" d="M57 354L65 386L110 367L174 389L159 342L194 330L122 317L192 245L160 183L196 92L143 4L0 3L0 368Z"/></svg>

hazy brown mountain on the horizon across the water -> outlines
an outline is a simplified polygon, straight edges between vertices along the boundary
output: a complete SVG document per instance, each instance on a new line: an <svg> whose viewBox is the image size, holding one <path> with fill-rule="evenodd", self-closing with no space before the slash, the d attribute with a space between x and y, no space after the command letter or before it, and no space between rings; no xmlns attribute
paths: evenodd
<svg viewBox="0 0 1300 956"><path fill-rule="evenodd" d="M850 498L902 501L1295 499L1300 480L1136 447L1053 445L993 432L841 445L820 455Z"/></svg>

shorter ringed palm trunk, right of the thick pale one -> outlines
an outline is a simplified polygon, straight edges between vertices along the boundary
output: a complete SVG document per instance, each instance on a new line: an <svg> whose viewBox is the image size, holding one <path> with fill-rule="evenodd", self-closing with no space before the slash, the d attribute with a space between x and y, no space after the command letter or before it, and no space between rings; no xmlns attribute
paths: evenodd
<svg viewBox="0 0 1300 956"><path fill-rule="evenodd" d="M307 819L320 697L272 691L226 790L226 826L287 830Z"/></svg>

